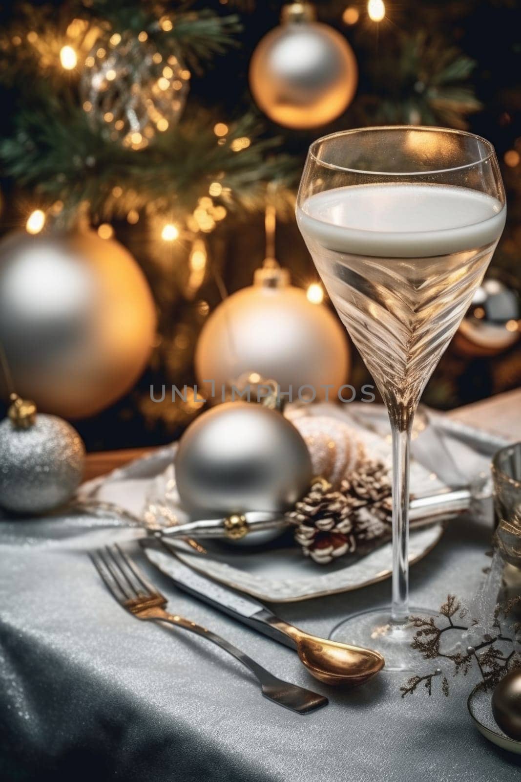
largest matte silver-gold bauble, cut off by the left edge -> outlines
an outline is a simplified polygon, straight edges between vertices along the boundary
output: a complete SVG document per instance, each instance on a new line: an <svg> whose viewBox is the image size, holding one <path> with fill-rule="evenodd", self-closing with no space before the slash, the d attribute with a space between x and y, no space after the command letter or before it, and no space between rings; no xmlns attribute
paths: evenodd
<svg viewBox="0 0 521 782"><path fill-rule="evenodd" d="M15 388L40 410L108 407L140 375L154 334L145 276L118 242L94 231L0 242L0 343Z"/></svg>

